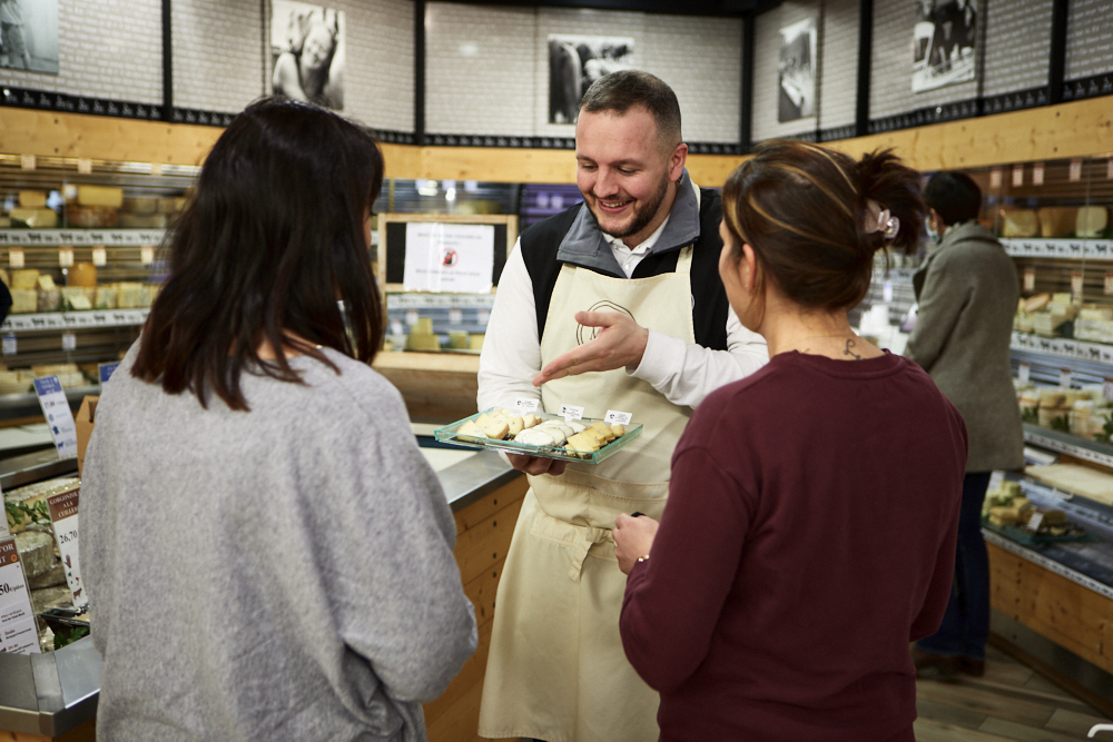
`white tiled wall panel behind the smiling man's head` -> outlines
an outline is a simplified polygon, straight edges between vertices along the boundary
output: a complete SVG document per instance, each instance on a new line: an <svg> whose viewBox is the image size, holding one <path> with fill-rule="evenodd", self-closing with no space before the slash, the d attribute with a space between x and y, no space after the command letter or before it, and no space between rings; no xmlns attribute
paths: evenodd
<svg viewBox="0 0 1113 742"><path fill-rule="evenodd" d="M549 36L629 37L634 66L677 92L688 141L738 141L741 21L556 8L431 2L430 133L572 137L549 123Z"/></svg>

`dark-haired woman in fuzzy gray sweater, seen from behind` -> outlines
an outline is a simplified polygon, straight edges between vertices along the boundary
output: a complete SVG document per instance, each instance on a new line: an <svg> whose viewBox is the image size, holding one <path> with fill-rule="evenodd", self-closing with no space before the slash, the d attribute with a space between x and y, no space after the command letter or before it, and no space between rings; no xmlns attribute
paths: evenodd
<svg viewBox="0 0 1113 742"><path fill-rule="evenodd" d="M101 739L424 740L475 650L452 513L370 366L382 176L363 129L277 100L205 161L85 465Z"/></svg>

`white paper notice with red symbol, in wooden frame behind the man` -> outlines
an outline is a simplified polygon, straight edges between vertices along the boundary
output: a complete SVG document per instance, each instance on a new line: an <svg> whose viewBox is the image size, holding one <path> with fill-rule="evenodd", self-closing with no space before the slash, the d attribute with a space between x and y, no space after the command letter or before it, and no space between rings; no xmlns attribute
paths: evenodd
<svg viewBox="0 0 1113 742"><path fill-rule="evenodd" d="M492 225L406 225L405 290L490 294L493 270Z"/></svg>

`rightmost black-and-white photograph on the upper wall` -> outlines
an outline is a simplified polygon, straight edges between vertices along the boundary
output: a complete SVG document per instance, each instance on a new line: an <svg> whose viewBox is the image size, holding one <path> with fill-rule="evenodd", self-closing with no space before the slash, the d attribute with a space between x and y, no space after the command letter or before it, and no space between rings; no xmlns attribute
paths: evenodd
<svg viewBox="0 0 1113 742"><path fill-rule="evenodd" d="M973 80L977 49L975 0L915 0L913 92Z"/></svg>

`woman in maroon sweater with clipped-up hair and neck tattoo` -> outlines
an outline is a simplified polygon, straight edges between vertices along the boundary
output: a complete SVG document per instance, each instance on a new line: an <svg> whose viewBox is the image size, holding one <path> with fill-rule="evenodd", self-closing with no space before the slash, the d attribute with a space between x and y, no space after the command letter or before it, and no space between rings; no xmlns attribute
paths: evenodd
<svg viewBox="0 0 1113 742"><path fill-rule="evenodd" d="M915 740L908 644L951 593L966 428L847 309L876 250L915 246L918 182L888 152L784 141L727 180L719 273L771 360L700 404L661 523L613 531L661 740Z"/></svg>

